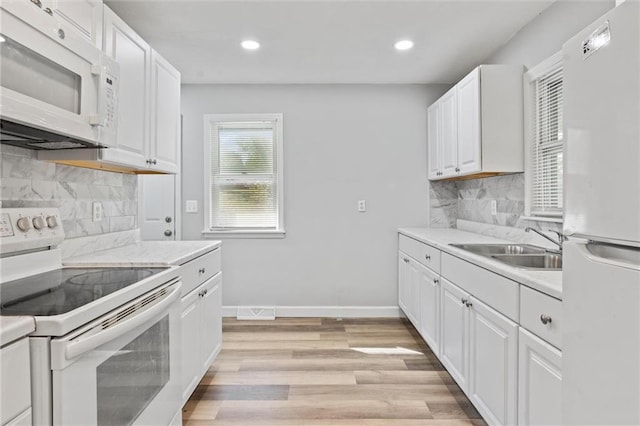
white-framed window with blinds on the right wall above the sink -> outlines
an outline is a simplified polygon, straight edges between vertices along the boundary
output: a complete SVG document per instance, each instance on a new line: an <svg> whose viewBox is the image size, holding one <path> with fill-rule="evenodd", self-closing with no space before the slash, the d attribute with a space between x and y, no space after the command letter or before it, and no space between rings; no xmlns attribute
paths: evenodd
<svg viewBox="0 0 640 426"><path fill-rule="evenodd" d="M536 219L562 219L562 104L558 53L525 74L525 203Z"/></svg>

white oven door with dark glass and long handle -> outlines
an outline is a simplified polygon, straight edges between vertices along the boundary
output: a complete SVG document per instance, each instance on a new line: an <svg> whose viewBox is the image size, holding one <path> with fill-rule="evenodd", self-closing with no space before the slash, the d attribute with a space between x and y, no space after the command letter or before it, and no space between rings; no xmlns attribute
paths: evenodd
<svg viewBox="0 0 640 426"><path fill-rule="evenodd" d="M180 282L51 342L54 425L168 425L181 409Z"/></svg>

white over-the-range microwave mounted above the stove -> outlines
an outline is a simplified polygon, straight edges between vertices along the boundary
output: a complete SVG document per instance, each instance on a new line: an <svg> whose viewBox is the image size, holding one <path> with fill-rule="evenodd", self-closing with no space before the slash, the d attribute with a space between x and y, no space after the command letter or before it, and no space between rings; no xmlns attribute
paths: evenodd
<svg viewBox="0 0 640 426"><path fill-rule="evenodd" d="M2 143L115 146L117 62L29 1L2 2L0 37Z"/></svg>

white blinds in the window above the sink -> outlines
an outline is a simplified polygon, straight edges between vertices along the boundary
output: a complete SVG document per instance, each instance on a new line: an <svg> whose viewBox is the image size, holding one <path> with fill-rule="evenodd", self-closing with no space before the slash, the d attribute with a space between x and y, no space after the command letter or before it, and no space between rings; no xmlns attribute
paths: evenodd
<svg viewBox="0 0 640 426"><path fill-rule="evenodd" d="M531 214L562 216L562 67L531 84Z"/></svg>

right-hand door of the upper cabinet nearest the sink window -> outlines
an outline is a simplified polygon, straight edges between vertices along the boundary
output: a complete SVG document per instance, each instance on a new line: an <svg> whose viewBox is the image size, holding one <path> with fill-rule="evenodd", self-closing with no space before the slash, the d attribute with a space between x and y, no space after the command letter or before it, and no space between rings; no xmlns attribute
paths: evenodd
<svg viewBox="0 0 640 426"><path fill-rule="evenodd" d="M458 90L458 174L479 172L480 158L480 68L457 85Z"/></svg>

